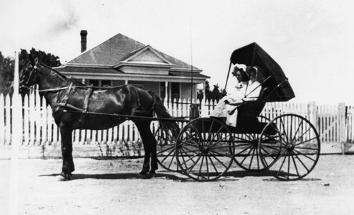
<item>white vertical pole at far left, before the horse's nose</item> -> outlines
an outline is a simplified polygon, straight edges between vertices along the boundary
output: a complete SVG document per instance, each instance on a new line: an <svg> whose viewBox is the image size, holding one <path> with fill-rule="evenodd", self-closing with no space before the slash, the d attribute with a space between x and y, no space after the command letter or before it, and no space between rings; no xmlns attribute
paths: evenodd
<svg viewBox="0 0 354 215"><path fill-rule="evenodd" d="M18 93L18 52L15 53L15 74L13 75L12 140L11 140L11 184L9 213L18 214L18 148L22 139L22 104Z"/></svg>

